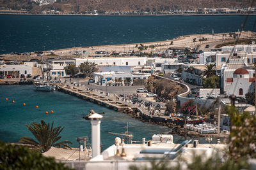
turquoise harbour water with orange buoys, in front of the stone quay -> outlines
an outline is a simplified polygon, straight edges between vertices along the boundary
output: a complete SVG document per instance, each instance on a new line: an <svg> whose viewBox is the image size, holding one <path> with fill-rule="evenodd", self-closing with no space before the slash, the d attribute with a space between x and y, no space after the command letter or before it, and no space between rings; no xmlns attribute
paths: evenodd
<svg viewBox="0 0 256 170"><path fill-rule="evenodd" d="M166 131L166 127L140 122L123 113L109 110L103 106L84 101L62 92L38 92L31 85L0 86L0 140L5 142L18 142L20 137L33 137L26 124L31 122L54 121L54 125L64 126L61 132L62 139L69 140L72 146L78 146L76 138L91 136L90 120L84 120L83 115L90 110L105 112L101 123L102 148L112 145L115 136L108 132L124 132L126 122L129 122L129 131L134 134L134 139L151 139L152 134ZM5 98L8 101L5 101ZM12 103L15 100L15 103ZM26 106L23 106L26 103ZM36 105L39 106L36 109ZM54 111L51 114L51 110ZM45 111L49 114L46 115ZM175 141L180 141L176 136ZM88 141L90 143L90 141Z"/></svg>

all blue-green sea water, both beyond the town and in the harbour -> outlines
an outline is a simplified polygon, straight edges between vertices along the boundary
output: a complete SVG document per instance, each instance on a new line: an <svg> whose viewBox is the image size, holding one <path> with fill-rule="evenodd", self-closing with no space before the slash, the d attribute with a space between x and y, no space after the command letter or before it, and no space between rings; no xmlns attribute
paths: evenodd
<svg viewBox="0 0 256 170"><path fill-rule="evenodd" d="M255 16L248 17L244 31L255 30ZM234 32L241 29L246 16L100 17L0 15L0 54L54 50L74 46L143 43L173 39L187 34ZM0 55L1 56L1 55ZM1 58L0 58L1 59ZM5 99L8 98L8 101ZM12 103L12 100L15 103ZM26 106L23 106L26 103ZM36 109L36 105L38 108ZM54 113L51 113L51 110ZM16 143L22 136L33 138L26 124L54 122L65 127L61 140L77 147L77 137L91 137L90 110L104 112L101 123L102 148L113 145L109 132L129 132L134 140L152 138L167 127L140 122L123 113L84 101L62 92L38 92L31 85L0 86L0 140ZM45 114L48 111L49 114ZM174 136L175 143L184 138ZM200 141L204 143L204 139Z"/></svg>

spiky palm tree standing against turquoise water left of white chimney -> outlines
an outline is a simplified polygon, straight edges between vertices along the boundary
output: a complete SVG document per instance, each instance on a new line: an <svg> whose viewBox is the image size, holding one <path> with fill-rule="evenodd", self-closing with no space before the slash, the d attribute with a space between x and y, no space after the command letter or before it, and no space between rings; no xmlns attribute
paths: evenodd
<svg viewBox="0 0 256 170"><path fill-rule="evenodd" d="M45 124L44 120L41 120L41 124L36 122L32 122L31 125L26 125L28 130L35 136L37 141L29 137L20 138L19 143L25 143L32 146L35 146L36 150L40 150L40 152L47 152L51 148L51 146L59 147L59 148L70 148L69 144L72 144L70 141L61 141L56 143L61 139L60 132L63 131L64 127L61 126L53 127L53 123L50 127L50 124Z"/></svg>

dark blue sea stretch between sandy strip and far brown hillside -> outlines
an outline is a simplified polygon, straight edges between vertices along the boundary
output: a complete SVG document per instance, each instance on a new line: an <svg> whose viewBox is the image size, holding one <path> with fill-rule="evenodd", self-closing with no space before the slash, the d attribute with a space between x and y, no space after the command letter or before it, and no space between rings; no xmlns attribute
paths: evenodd
<svg viewBox="0 0 256 170"><path fill-rule="evenodd" d="M100 17L0 15L0 54L74 46L162 41L187 34L234 32L246 16ZM244 31L256 31L256 16ZM45 47L44 47L45 46Z"/></svg>

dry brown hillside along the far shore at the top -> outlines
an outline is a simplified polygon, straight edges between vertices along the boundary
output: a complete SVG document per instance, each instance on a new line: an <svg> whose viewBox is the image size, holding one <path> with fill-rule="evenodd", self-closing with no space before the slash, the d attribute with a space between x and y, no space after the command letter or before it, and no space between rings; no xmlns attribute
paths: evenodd
<svg viewBox="0 0 256 170"><path fill-rule="evenodd" d="M202 8L244 8L250 0L58 0L55 4L37 6L30 0L0 0L0 7L12 10L29 9L32 12L58 10L61 12L85 11L170 11Z"/></svg>

